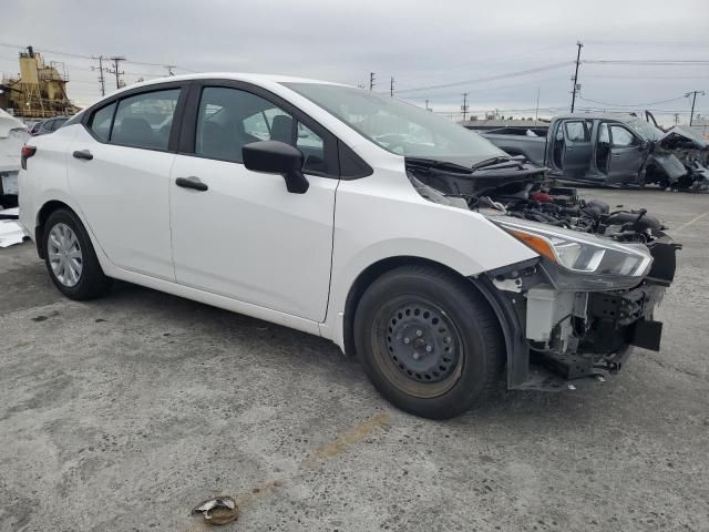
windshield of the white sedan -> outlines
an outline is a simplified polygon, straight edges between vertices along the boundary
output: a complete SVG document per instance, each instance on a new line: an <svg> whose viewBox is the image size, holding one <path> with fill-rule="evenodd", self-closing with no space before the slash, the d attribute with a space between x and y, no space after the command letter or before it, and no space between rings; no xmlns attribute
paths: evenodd
<svg viewBox="0 0 709 532"><path fill-rule="evenodd" d="M284 83L384 150L465 166L506 154L465 127L394 98L363 89Z"/></svg>

